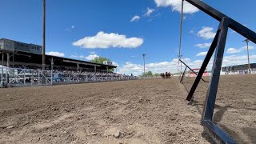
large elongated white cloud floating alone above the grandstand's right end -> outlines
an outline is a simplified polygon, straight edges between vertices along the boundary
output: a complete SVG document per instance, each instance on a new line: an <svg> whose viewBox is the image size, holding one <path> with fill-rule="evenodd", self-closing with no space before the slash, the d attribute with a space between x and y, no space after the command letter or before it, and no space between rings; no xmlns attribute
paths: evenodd
<svg viewBox="0 0 256 144"><path fill-rule="evenodd" d="M102 48L107 49L110 47L123 47L123 48L136 48L143 43L142 38L126 38L126 35L98 32L93 37L86 37L73 42L73 46L80 46L86 49Z"/></svg>

